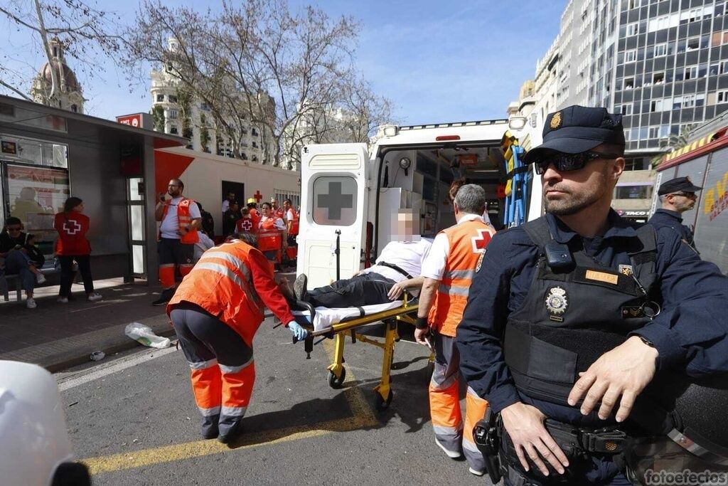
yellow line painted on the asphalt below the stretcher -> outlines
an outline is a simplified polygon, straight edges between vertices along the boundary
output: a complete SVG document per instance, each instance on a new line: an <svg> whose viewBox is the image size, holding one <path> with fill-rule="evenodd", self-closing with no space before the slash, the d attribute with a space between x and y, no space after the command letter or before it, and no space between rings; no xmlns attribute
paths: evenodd
<svg viewBox="0 0 728 486"><path fill-rule="evenodd" d="M326 348L329 355L331 355L331 347L330 341L327 340L324 342L324 348ZM356 380L351 371L349 371L349 380ZM151 449L121 452L119 454L102 455L96 458L83 459L81 462L88 466L92 475L95 475L121 471L123 469L151 466L153 464L169 463L175 460L198 458L205 455L220 454L222 452L234 452L261 445L281 444L299 439L310 439L312 437L331 434L332 432L348 432L360 428L373 427L379 423L364 394L358 387L355 386L345 389L344 397L347 399L349 408L352 409L351 417L314 423L310 426L286 427L261 431L255 434L243 434L238 442L232 444L232 447L228 447L215 440L199 440Z"/></svg>

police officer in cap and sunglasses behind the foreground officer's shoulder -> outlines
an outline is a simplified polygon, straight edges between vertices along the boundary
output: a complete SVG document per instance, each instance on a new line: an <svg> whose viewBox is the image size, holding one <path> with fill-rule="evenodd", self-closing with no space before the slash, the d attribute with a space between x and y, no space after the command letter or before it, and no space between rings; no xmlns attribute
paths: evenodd
<svg viewBox="0 0 728 486"><path fill-rule="evenodd" d="M689 177L677 177L663 182L657 195L660 196L662 208L654 211L649 224L654 227L669 227L678 232L680 238L689 246L695 248L695 236L692 230L682 224L682 213L695 207L696 192L703 189L692 183Z"/></svg>

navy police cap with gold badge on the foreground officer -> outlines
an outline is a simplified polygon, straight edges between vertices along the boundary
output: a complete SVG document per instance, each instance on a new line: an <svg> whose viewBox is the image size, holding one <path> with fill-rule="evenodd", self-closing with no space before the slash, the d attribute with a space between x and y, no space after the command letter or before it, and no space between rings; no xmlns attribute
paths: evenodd
<svg viewBox="0 0 728 486"><path fill-rule="evenodd" d="M530 164L548 151L579 154L601 144L624 146L622 115L609 113L606 108L569 106L548 114L543 140L526 154L524 162Z"/></svg>

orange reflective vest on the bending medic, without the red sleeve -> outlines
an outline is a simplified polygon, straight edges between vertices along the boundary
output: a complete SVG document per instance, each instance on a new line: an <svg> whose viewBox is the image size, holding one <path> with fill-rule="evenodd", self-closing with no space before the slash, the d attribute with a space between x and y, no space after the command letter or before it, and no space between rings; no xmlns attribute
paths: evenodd
<svg viewBox="0 0 728 486"><path fill-rule="evenodd" d="M167 304L167 314L180 302L199 305L240 334L252 347L264 318L264 303L253 286L250 252L256 248L232 240L202 254Z"/></svg>

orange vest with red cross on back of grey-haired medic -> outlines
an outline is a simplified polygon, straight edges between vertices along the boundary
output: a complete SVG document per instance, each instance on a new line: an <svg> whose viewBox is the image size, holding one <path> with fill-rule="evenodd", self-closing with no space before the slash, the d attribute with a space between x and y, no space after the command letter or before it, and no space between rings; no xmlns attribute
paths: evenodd
<svg viewBox="0 0 728 486"><path fill-rule="evenodd" d="M451 226L442 232L448 238L450 251L427 321L440 334L455 337L467 304L475 267L495 230L482 219L474 219Z"/></svg>

